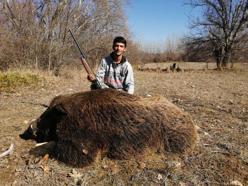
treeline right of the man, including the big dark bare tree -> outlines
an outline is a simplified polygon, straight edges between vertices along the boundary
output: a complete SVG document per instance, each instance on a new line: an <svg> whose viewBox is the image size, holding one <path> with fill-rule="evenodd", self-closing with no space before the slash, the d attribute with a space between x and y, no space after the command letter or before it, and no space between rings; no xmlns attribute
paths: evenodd
<svg viewBox="0 0 248 186"><path fill-rule="evenodd" d="M173 56L184 61L215 61L218 69L247 61L248 0L188 0L200 13L192 19L191 34L182 38L181 50L154 54L153 61ZM182 51L182 52L178 52ZM172 55L173 54L173 55Z"/></svg>

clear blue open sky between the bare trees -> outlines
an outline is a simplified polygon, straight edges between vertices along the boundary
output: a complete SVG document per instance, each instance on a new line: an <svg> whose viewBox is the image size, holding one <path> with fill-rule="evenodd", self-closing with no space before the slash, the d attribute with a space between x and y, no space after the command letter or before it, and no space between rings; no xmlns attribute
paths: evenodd
<svg viewBox="0 0 248 186"><path fill-rule="evenodd" d="M135 41L147 45L165 45L189 32L192 8L185 0L129 0L128 26Z"/></svg>

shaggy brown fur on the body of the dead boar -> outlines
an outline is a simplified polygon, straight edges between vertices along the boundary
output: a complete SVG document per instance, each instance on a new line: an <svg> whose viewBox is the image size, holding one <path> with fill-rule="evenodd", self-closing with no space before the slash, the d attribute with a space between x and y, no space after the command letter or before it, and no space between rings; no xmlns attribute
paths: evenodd
<svg viewBox="0 0 248 186"><path fill-rule="evenodd" d="M36 141L55 140L53 155L73 166L98 151L128 159L146 148L184 153L196 140L191 117L163 97L104 89L54 98L37 120Z"/></svg>

